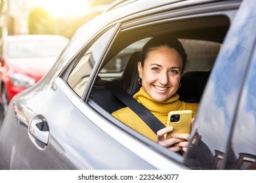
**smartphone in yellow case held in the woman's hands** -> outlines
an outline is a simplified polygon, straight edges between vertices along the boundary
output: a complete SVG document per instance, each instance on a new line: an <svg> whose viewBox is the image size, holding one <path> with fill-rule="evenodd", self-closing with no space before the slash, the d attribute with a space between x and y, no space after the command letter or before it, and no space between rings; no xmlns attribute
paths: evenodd
<svg viewBox="0 0 256 183"><path fill-rule="evenodd" d="M167 126L172 126L173 131L167 133L167 139L172 133L190 133L192 110L176 110L168 114Z"/></svg>

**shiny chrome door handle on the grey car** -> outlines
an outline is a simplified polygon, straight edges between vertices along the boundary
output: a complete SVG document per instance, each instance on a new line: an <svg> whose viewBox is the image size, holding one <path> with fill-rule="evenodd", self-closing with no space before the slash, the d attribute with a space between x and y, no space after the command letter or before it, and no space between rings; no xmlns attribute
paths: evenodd
<svg viewBox="0 0 256 183"><path fill-rule="evenodd" d="M33 119L30 122L28 131L37 141L47 144L49 140L49 129L47 122L41 119Z"/></svg>

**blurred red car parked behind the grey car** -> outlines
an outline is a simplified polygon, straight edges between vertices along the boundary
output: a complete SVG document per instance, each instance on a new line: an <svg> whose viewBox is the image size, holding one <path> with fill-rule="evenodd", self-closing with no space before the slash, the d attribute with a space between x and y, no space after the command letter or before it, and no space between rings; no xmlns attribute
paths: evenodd
<svg viewBox="0 0 256 183"><path fill-rule="evenodd" d="M41 79L68 44L60 35L11 35L0 42L0 103Z"/></svg>

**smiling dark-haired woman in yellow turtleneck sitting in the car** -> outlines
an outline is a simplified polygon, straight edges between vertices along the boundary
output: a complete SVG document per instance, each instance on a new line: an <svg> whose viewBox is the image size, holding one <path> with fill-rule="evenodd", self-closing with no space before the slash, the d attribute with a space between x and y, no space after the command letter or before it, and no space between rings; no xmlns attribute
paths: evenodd
<svg viewBox="0 0 256 183"><path fill-rule="evenodd" d="M186 53L173 37L154 37L142 48L138 63L139 92L133 96L148 108L165 126L168 113L172 110L192 110L195 116L198 103L184 103L176 93L181 87L181 75L186 66ZM176 133L166 139L173 127L165 127L157 135L130 108L125 107L112 113L114 117L142 135L158 142L174 152L186 151L189 134Z"/></svg>

